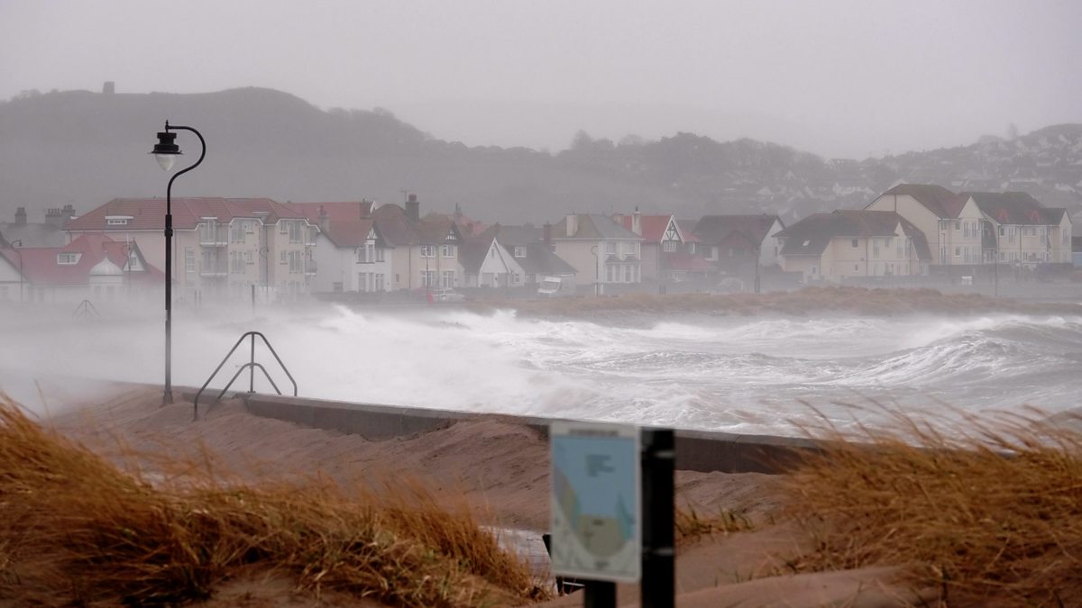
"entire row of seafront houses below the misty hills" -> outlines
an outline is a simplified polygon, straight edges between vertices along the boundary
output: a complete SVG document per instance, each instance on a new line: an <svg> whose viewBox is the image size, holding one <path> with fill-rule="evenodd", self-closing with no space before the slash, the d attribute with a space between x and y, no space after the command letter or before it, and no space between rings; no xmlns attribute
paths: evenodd
<svg viewBox="0 0 1082 608"><path fill-rule="evenodd" d="M1071 262L1071 222L1022 193L960 193L903 184L860 210L777 215L572 213L543 226L487 225L427 213L409 195L373 201L265 198L173 200L174 293L184 301L311 293L535 290L546 277L582 292L659 289L758 277L840 282L863 277L973 274L993 264ZM149 296L163 279L162 199L118 198L44 224L0 224L0 300ZM17 238L16 238L17 237Z"/></svg>

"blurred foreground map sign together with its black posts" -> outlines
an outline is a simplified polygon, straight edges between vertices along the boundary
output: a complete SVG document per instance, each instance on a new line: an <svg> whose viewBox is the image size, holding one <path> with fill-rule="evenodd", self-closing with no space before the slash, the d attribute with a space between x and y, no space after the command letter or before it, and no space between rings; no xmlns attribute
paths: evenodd
<svg viewBox="0 0 1082 608"><path fill-rule="evenodd" d="M583 606L616 608L616 582L638 582L643 608L672 608L672 429L557 421L549 436L553 519L544 541L559 592L582 585Z"/></svg>

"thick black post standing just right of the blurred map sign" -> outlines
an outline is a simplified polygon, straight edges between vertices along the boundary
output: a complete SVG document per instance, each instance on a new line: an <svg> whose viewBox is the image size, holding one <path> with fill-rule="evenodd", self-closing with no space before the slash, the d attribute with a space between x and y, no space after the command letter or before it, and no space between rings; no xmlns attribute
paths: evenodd
<svg viewBox="0 0 1082 608"><path fill-rule="evenodd" d="M643 431L643 608L676 603L675 457L671 428Z"/></svg>

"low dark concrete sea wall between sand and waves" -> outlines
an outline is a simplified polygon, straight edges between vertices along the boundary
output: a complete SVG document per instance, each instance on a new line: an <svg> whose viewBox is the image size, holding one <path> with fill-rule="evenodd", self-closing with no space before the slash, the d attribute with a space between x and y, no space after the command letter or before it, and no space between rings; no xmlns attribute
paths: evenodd
<svg viewBox="0 0 1082 608"><path fill-rule="evenodd" d="M185 398L194 397L185 392ZM551 419L489 413L458 412L423 408L404 408L371 404L351 404L237 394L256 415L295 422L305 426L360 435L369 439L388 439L444 428L459 421L497 419L528 426L547 436ZM203 397L206 398L206 397ZM212 399L213 397L211 397ZM202 399L201 399L202 400ZM210 406L200 405L206 411ZM709 431L676 432L676 468L682 471L725 473L780 473L800 452L814 450L815 442L803 438L770 435L738 435Z"/></svg>

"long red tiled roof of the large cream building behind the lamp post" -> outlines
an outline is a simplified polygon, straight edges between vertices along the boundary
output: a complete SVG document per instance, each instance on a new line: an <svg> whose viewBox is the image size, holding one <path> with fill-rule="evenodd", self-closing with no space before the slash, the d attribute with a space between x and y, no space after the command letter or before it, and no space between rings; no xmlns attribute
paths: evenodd
<svg viewBox="0 0 1082 608"><path fill-rule="evenodd" d="M296 210L268 198L174 198L172 200L173 227L193 230L202 217L216 217L228 223L234 217L258 217L258 212L266 213L266 222L303 219ZM107 217L131 217L127 224L109 225ZM115 198L88 213L64 224L68 232L131 232L164 229L166 199L163 198Z"/></svg>

